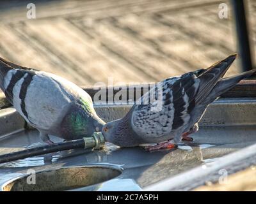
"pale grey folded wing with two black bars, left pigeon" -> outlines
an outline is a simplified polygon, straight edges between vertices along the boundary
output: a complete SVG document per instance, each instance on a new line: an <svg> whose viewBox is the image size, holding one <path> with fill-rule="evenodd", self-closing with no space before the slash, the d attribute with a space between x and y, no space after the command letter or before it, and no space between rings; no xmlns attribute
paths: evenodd
<svg viewBox="0 0 256 204"><path fill-rule="evenodd" d="M7 69L2 87L14 108L38 129L60 123L72 103L87 103L89 110L92 104L83 89L44 71Z"/></svg>

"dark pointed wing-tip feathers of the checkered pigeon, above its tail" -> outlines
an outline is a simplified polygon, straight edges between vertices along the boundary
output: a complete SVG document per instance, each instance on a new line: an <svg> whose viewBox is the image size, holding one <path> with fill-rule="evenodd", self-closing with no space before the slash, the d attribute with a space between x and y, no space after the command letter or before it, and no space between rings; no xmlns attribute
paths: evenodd
<svg viewBox="0 0 256 204"><path fill-rule="evenodd" d="M200 79L200 87L198 89L198 94L196 94L196 104L201 103L212 91L214 85L220 80L221 77L225 75L228 68L236 59L237 54L228 56L220 62L212 64L209 68L200 71L198 78Z"/></svg>

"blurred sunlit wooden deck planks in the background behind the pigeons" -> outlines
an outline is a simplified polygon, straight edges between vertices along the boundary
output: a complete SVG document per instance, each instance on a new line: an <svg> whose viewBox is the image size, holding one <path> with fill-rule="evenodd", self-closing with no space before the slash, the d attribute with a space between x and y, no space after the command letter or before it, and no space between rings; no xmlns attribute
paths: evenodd
<svg viewBox="0 0 256 204"><path fill-rule="evenodd" d="M218 17L223 2L228 19ZM237 50L229 1L34 1L36 19L27 3L1 1L0 55L78 85L160 81ZM228 74L237 72L238 61Z"/></svg>

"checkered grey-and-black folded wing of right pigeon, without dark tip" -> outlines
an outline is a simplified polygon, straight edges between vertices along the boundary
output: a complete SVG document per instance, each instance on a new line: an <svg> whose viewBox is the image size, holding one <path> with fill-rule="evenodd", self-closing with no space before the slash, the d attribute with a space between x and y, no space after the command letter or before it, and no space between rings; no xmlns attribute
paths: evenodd
<svg viewBox="0 0 256 204"><path fill-rule="evenodd" d="M162 83L163 106L161 110L156 111L157 101L134 107L131 119L132 128L138 135L150 137L168 135L182 128L190 119L189 113L195 107L195 96L200 80L195 75L187 75L168 78ZM142 96L141 101L147 101L148 95L154 95L155 90L156 87L150 89L149 94ZM158 105L161 106L161 99Z"/></svg>

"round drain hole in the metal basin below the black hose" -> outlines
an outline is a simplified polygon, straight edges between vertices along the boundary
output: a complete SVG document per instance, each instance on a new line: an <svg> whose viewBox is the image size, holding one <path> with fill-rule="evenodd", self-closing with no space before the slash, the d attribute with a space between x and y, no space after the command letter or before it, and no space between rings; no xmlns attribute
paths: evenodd
<svg viewBox="0 0 256 204"><path fill-rule="evenodd" d="M120 174L120 170L99 166L60 168L36 173L36 184L27 183L29 175L13 180L3 186L3 191L66 191L98 184Z"/></svg>

